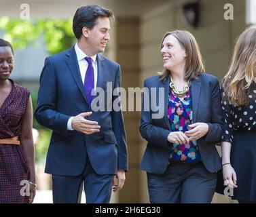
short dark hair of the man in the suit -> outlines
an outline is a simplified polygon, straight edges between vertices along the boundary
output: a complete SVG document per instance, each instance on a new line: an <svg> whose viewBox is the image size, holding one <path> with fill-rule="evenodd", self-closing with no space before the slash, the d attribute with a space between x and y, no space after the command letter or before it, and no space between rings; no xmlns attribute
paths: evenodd
<svg viewBox="0 0 256 217"><path fill-rule="evenodd" d="M98 5L88 5L79 7L73 18L73 32L75 37L79 39L82 35L81 30L84 27L92 29L98 17L114 18L111 9L105 9Z"/></svg>

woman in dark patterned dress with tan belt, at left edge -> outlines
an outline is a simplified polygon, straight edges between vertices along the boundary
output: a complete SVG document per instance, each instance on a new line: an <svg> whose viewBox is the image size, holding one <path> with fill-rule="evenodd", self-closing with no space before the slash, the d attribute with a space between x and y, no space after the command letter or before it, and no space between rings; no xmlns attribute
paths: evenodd
<svg viewBox="0 0 256 217"><path fill-rule="evenodd" d="M13 68L12 45L0 39L0 203L32 203L33 107L29 90L9 78Z"/></svg>

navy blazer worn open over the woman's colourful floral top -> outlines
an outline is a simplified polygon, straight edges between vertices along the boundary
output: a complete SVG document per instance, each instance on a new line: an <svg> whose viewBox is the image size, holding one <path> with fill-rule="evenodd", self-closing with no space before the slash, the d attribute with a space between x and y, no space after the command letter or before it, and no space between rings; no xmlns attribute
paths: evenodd
<svg viewBox="0 0 256 217"><path fill-rule="evenodd" d="M170 121L168 119L168 92L170 77L165 81L160 81L159 76L149 77L144 81L144 87L156 87L156 96L143 97L143 109L141 112L141 136L147 140L147 148L141 162L141 169L153 174L163 174L168 166L170 156L170 146L167 137L170 133ZM159 87L164 88L164 117L152 119L152 114L156 113L151 106L149 111L144 109L145 97L155 100L159 104ZM221 139L223 132L223 120L221 111L221 93L219 81L213 75L202 74L198 79L191 82L191 97L193 120L204 122L209 126L208 133L197 140L202 161L209 172L217 172L221 169L221 161L215 144ZM146 111L145 111L146 110Z"/></svg>

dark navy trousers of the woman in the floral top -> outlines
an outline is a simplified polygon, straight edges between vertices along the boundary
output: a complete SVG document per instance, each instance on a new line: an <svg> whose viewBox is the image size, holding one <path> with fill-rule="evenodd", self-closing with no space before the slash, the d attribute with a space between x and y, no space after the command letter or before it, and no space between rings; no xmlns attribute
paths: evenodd
<svg viewBox="0 0 256 217"><path fill-rule="evenodd" d="M217 173L199 163L170 163L164 174L147 173L151 203L211 203Z"/></svg>

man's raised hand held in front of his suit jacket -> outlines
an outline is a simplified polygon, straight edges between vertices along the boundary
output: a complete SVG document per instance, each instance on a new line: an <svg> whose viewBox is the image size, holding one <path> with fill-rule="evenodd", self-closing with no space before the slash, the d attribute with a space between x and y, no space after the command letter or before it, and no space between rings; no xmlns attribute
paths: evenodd
<svg viewBox="0 0 256 217"><path fill-rule="evenodd" d="M98 125L98 122L88 121L85 119L85 117L90 115L92 115L92 111L88 113L81 113L75 116L71 121L72 128L88 135L100 132L100 126Z"/></svg>

